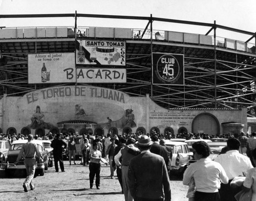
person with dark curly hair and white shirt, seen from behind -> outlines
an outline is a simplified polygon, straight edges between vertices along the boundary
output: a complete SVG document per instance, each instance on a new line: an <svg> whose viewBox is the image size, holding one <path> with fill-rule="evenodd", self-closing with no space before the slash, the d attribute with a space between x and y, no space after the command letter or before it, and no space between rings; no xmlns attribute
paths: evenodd
<svg viewBox="0 0 256 201"><path fill-rule="evenodd" d="M228 183L226 172L219 163L207 158L210 155L210 147L206 142L195 142L192 147L197 162L189 165L185 170L183 184L191 186L194 180L195 200L217 201L220 199L221 182Z"/></svg>

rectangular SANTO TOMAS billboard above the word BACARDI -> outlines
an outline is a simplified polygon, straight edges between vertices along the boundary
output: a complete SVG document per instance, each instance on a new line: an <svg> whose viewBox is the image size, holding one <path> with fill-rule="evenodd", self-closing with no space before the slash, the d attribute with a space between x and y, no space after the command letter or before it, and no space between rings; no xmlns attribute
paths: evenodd
<svg viewBox="0 0 256 201"><path fill-rule="evenodd" d="M76 63L125 66L125 42L77 40Z"/></svg>

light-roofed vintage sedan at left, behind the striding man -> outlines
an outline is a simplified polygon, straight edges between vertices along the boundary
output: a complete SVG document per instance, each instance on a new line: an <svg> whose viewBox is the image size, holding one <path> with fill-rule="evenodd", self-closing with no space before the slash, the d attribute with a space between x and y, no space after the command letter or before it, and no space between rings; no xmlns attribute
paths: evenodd
<svg viewBox="0 0 256 201"><path fill-rule="evenodd" d="M15 169L26 169L24 164L25 157L22 156L22 158L18 161L17 165L14 165L14 162L16 161L19 151L22 148L23 144L27 143L28 140L15 140L12 142L8 152L6 155L2 157L1 160L1 169L5 169L6 173L9 174L11 170ZM37 147L39 149L39 152L42 155L43 163L39 163L39 158L36 157L36 171L35 176L44 175L45 170L48 169L48 160L49 160L49 153L45 149L44 144L42 143L42 140L33 140L37 144Z"/></svg>

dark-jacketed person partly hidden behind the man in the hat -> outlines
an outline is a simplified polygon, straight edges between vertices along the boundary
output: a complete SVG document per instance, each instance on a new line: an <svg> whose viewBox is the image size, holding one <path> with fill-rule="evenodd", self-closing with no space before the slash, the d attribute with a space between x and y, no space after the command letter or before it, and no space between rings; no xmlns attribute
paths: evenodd
<svg viewBox="0 0 256 201"><path fill-rule="evenodd" d="M154 142L151 146L150 152L153 154L160 155L163 157L166 167L168 167L169 163L169 153L167 149L157 143L158 137L156 135L151 136L151 140Z"/></svg>

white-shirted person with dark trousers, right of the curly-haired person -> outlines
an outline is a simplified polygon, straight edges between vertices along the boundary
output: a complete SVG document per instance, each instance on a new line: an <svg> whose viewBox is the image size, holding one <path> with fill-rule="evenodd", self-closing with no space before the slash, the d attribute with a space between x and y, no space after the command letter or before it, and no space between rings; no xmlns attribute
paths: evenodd
<svg viewBox="0 0 256 201"><path fill-rule="evenodd" d="M221 184L220 196L221 201L236 201L234 195L241 189L233 189L230 187L230 182L234 177L243 175L243 172L253 168L250 159L239 153L240 142L236 138L230 138L227 140L228 151L225 154L219 155L215 161L220 163L227 173L228 184Z"/></svg>

